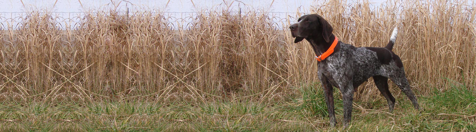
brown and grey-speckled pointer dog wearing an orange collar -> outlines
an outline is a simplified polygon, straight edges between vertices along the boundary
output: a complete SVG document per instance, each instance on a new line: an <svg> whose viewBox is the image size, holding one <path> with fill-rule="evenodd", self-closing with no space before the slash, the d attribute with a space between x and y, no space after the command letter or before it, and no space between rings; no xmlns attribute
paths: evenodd
<svg viewBox="0 0 476 132"><path fill-rule="evenodd" d="M395 107L395 98L388 90L390 78L407 95L415 109L419 109L417 98L410 90L403 63L392 47L397 38L394 28L386 47L354 47L338 41L332 34L332 26L317 14L304 15L297 23L289 26L294 43L306 39L313 48L317 62L317 76L324 89L324 97L329 113L329 123L335 127L333 86L342 93L344 104L343 126L346 128L352 115L352 101L357 87L373 77L380 93L387 99L388 110Z"/></svg>

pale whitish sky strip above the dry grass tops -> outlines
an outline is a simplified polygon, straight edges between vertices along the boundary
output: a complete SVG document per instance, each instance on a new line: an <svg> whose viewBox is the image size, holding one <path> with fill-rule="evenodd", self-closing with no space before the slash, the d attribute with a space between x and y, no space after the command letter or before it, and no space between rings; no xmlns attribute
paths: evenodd
<svg viewBox="0 0 476 132"><path fill-rule="evenodd" d="M370 1L379 4L387 0ZM130 11L139 9L168 12L166 15L173 18L169 21L177 21L177 19L182 19L184 16L190 16L190 12L203 9L230 7L234 11L239 8L245 11L247 10L246 7L251 7L253 9L263 9L267 12L275 12L273 14L277 18L281 18L275 20L278 22L283 21L282 19L288 16L288 13L282 12L296 13L297 10L308 12L310 5L314 5L314 2L323 2L323 0L0 0L0 5L2 5L2 8L0 8L0 23L2 23L0 28L6 27L6 21L10 23L20 22L20 16L24 15L21 12L43 9L55 12L54 15L60 16L57 21L69 20L75 22L78 20L71 20L71 16L80 16L80 12L93 9L114 9L115 7L117 7L117 11L125 11L129 8ZM185 21L190 20L185 19ZM292 18L290 20L294 22L296 19Z"/></svg>

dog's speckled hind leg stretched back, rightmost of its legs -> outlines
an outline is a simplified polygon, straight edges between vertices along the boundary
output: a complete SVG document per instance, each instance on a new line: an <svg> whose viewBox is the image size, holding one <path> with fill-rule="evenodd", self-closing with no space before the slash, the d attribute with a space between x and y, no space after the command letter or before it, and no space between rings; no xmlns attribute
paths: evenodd
<svg viewBox="0 0 476 132"><path fill-rule="evenodd" d="M410 89L410 84L408 84L407 77L405 76L405 71L402 68L394 70L391 74L389 74L390 80L392 80L395 85L397 85L403 93L405 93L412 101L413 106L415 109L419 110L420 106L417 102L417 97L413 94L412 90Z"/></svg>

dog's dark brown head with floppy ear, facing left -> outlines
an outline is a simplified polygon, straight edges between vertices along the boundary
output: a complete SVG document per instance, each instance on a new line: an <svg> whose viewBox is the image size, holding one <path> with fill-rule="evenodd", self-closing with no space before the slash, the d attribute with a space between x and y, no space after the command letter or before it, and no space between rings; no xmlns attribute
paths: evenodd
<svg viewBox="0 0 476 132"><path fill-rule="evenodd" d="M304 15L297 19L297 23L289 26L294 43L302 41L304 38L322 37L326 42L329 42L329 37L332 34L332 26L327 20L323 19L317 14Z"/></svg>

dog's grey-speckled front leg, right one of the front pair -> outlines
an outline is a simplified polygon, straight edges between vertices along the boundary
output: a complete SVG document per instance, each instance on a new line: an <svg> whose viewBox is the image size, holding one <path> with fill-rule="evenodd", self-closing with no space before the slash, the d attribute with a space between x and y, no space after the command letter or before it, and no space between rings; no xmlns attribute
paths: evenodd
<svg viewBox="0 0 476 132"><path fill-rule="evenodd" d="M348 83L340 89L342 93L342 102L344 104L344 120L342 121L344 128L346 128L352 116L352 101L354 100L354 86Z"/></svg>

